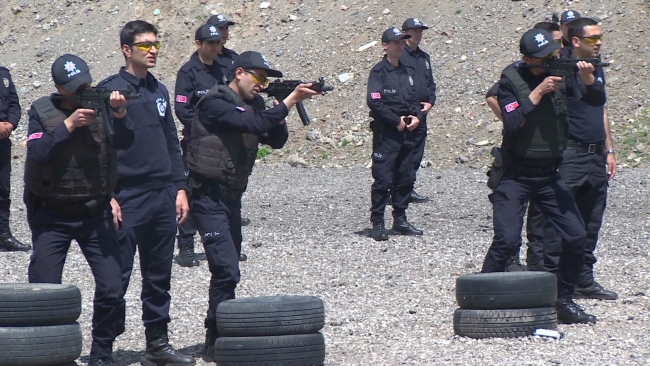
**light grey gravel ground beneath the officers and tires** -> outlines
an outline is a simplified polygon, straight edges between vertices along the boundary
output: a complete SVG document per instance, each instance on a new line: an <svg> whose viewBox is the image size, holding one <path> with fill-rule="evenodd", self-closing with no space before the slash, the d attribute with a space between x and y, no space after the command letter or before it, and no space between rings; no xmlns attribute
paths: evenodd
<svg viewBox="0 0 650 366"><path fill-rule="evenodd" d="M21 207L22 166L15 161L12 226L28 241ZM477 271L492 235L482 170L424 169L410 220L422 238L367 237L370 173L362 168L258 166L244 199L242 282L237 295L316 295L325 301L328 365L647 365L650 363L650 242L648 170L626 169L611 185L597 255L597 279L617 301L580 301L595 326L560 326L562 340L538 337L477 341L454 336L455 279ZM392 221L389 219L387 224ZM29 255L2 253L3 282L26 282ZM203 338L207 263L173 267L171 342L194 356ZM79 322L87 362L93 281L78 247L70 249L64 282L83 294ZM117 365L136 365L144 349L140 273L127 298L127 330L116 342ZM508 361L504 361L507 359ZM198 365L203 361L198 360Z"/></svg>

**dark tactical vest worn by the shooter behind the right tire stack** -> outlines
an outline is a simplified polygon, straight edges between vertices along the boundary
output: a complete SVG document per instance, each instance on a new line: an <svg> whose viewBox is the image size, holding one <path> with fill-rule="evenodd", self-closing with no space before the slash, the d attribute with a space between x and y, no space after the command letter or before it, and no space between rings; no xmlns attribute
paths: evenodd
<svg viewBox="0 0 650 366"><path fill-rule="evenodd" d="M531 93L521 72L521 68L507 67L502 73L514 87L519 101L527 99ZM509 150L522 158L560 157L566 147L566 112L566 89L546 94L526 116L516 137L508 142Z"/></svg>

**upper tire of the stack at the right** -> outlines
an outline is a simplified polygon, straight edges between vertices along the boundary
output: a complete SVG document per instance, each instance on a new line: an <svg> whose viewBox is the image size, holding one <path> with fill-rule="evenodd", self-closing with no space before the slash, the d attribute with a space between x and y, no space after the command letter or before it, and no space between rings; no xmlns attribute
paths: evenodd
<svg viewBox="0 0 650 366"><path fill-rule="evenodd" d="M456 279L456 302L464 309L528 309L551 306L557 280L548 272L477 273Z"/></svg>

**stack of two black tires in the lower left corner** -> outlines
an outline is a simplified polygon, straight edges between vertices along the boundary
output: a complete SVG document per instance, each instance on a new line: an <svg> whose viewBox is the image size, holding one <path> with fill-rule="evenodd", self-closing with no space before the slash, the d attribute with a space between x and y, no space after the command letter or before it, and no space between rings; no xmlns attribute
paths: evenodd
<svg viewBox="0 0 650 366"><path fill-rule="evenodd" d="M81 355L81 291L75 286L0 284L0 366L52 366Z"/></svg>

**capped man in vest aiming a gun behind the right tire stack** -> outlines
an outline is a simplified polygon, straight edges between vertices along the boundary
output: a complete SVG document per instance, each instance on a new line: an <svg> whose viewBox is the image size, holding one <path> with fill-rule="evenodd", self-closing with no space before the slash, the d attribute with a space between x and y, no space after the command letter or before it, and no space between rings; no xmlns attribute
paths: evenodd
<svg viewBox="0 0 650 366"><path fill-rule="evenodd" d="M575 89L566 84L583 83L582 98L594 106L605 104L605 90L596 82L594 66L586 62L576 63L579 71L566 80L534 67L557 57L560 49L553 36L544 30L524 33L519 48L524 64L533 67L510 65L499 81L498 100L504 120L500 152L507 156L507 163L489 196L493 204L494 239L482 272L504 271L508 259L519 250L526 202L535 200L562 238L555 302L558 322L595 322L595 316L572 300L584 260L586 233L557 167L566 143L566 96Z"/></svg>

